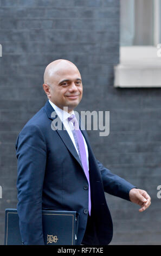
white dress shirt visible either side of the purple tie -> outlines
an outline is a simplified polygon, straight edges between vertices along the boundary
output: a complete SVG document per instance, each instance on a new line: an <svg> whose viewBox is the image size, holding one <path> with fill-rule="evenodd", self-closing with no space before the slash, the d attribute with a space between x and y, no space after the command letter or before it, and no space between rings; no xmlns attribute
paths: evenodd
<svg viewBox="0 0 161 256"><path fill-rule="evenodd" d="M70 139L72 139L72 142L74 144L74 147L76 149L76 152L78 153L78 149L76 148L76 144L75 144L75 139L74 139L74 136L73 136L73 132L72 132L72 127L71 125L73 125L72 122L68 122L68 117L70 117L70 115L74 114L74 111L72 111L71 114L69 114L67 111L63 111L63 109L57 107L53 102L51 102L49 100L49 103L50 105L54 108L56 114L59 116L60 120L62 121L63 125L65 126L67 132L68 132L68 135L70 136ZM82 135L83 136L83 135ZM86 141L85 141L85 138L83 137L83 141L85 143L85 149L86 149L86 156L87 156L87 165L88 165L88 170L89 170L89 161L88 161L88 147L87 147L87 144L86 144ZM79 154L79 153L78 153Z"/></svg>

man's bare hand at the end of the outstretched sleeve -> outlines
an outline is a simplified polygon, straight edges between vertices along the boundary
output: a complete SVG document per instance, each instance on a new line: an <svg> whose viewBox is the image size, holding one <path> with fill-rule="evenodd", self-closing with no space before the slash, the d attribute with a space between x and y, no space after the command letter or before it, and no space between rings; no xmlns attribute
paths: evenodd
<svg viewBox="0 0 161 256"><path fill-rule="evenodd" d="M151 205L151 198L145 190L139 190L139 188L132 188L129 192L131 202L139 204L141 208L139 211L145 211Z"/></svg>

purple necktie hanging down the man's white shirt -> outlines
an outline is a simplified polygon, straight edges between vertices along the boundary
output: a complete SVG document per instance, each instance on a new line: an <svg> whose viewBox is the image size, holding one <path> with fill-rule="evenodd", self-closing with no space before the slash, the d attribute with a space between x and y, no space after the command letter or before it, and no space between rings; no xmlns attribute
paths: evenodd
<svg viewBox="0 0 161 256"><path fill-rule="evenodd" d="M88 165L87 165L85 143L83 141L83 136L79 129L78 120L76 119L75 115L74 114L70 115L70 117L68 117L68 121L71 121L74 125L74 129L72 129L72 132L73 132L76 148L78 149L82 167L88 180L88 197L89 197L88 211L89 211L89 215L91 215L91 188L90 188L90 182L89 182L89 172L88 172Z"/></svg>

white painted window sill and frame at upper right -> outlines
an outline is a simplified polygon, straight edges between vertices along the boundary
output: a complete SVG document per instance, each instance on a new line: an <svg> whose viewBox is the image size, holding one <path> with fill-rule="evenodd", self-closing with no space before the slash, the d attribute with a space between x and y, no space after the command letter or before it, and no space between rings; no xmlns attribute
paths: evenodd
<svg viewBox="0 0 161 256"><path fill-rule="evenodd" d="M154 45L120 47L120 63L114 66L114 87L161 87L160 4L160 0L154 0Z"/></svg>

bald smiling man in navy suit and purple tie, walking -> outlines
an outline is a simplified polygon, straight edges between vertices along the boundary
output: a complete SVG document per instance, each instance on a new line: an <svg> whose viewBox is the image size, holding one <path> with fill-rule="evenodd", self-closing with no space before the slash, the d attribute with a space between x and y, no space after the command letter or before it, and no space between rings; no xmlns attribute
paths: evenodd
<svg viewBox="0 0 161 256"><path fill-rule="evenodd" d="M139 204L140 212L151 204L150 196L96 160L86 131L79 124L76 129L73 109L83 90L78 68L68 60L51 62L43 89L46 105L25 124L16 142L22 242L44 245L42 209L54 209L79 212L77 245L108 245L113 228L104 191ZM55 118L63 129L52 129Z"/></svg>

